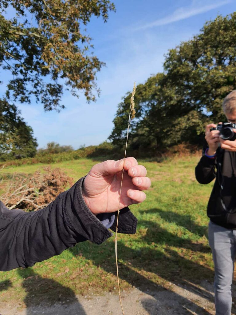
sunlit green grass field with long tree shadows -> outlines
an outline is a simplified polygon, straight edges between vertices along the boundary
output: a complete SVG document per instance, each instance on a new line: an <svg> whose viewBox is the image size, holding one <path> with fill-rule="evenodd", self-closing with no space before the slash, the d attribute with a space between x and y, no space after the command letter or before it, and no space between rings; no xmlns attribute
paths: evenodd
<svg viewBox="0 0 236 315"><path fill-rule="evenodd" d="M152 186L145 202L131 206L138 218L135 235L118 238L121 290L132 286L158 290L170 283L213 281L213 263L207 241L206 205L212 183L200 185L194 177L199 156L167 159L162 163L139 161L148 170ZM81 159L52 164L76 181L96 163ZM34 173L45 164L0 170L1 175ZM28 299L40 302L72 298L76 294L117 291L115 238L102 245L77 244L61 255L31 268L0 272L0 297L20 305Z"/></svg>

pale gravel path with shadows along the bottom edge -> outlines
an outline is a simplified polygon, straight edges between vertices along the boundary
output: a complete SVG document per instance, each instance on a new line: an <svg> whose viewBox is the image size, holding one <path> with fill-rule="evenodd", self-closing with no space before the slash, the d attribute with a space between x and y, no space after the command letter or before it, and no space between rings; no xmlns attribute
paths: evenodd
<svg viewBox="0 0 236 315"><path fill-rule="evenodd" d="M169 283L168 289L142 292L137 288L122 292L126 315L209 315L214 314L212 284L181 286ZM207 289L206 289L207 288ZM6 304L0 301L2 315L122 315L118 295L75 296L73 300L50 305L37 305L36 297L28 305ZM28 298L29 301L29 298ZM36 306L37 305L37 306Z"/></svg>

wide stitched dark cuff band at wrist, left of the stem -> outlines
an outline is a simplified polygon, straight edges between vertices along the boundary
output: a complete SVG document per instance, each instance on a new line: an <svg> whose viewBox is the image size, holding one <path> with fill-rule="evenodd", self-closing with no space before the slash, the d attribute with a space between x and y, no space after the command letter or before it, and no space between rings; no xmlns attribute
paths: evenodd
<svg viewBox="0 0 236 315"><path fill-rule="evenodd" d="M70 198L65 198L64 210L66 214L66 221L70 229L76 234L82 236L85 240L90 240L95 244L103 243L107 238L113 234L96 218L92 211L87 207L82 195L82 184L85 177L78 180L74 186L70 188ZM71 209L72 211L67 211Z"/></svg>

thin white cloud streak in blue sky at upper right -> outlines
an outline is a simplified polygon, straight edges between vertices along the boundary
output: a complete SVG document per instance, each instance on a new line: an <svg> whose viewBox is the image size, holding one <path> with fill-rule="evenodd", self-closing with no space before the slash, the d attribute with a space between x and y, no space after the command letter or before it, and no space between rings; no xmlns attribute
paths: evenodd
<svg viewBox="0 0 236 315"><path fill-rule="evenodd" d="M167 24L170 24L173 22L187 19L187 18L194 16L194 15L197 15L197 14L211 11L212 9L219 8L219 7L221 7L225 4L228 4L230 2L231 2L231 0L224 0L221 2L216 2L216 3L211 3L211 4L201 6L200 3L197 4L196 1L194 1L191 6L179 8L179 9L175 10L171 15L168 15L168 16L166 16L162 19L156 20L154 22L135 27L134 30L135 31L146 30L148 28L153 28L155 26L167 25Z"/></svg>

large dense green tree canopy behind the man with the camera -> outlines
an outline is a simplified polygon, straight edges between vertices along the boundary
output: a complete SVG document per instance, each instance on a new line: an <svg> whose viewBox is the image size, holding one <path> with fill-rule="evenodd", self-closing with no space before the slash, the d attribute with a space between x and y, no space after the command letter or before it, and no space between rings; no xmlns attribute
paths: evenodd
<svg viewBox="0 0 236 315"><path fill-rule="evenodd" d="M207 22L200 34L170 49L164 71L139 84L133 149L162 150L188 141L200 143L206 122L224 121L222 101L236 88L236 13ZM131 92L114 119L110 135L122 143L127 128Z"/></svg>

